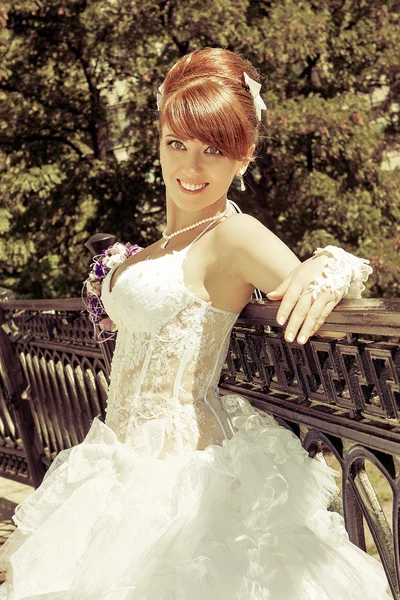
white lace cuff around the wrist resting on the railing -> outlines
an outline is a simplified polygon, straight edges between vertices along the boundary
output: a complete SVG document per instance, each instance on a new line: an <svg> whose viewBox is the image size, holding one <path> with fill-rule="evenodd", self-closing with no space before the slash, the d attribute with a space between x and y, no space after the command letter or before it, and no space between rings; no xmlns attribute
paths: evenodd
<svg viewBox="0 0 400 600"><path fill-rule="evenodd" d="M317 248L314 254L320 256L326 252L329 252L331 256L328 258L322 275L315 276L315 283L311 283L304 294L312 291L312 297L315 300L320 292L329 288L337 298L342 296L343 292L342 297L361 298L361 293L365 290L364 283L372 273L369 260L358 258L338 246Z"/></svg>

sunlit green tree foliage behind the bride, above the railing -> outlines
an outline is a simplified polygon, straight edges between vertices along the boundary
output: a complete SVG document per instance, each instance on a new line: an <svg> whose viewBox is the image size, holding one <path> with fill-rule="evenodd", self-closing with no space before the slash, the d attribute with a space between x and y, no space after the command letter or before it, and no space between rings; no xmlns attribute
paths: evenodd
<svg viewBox="0 0 400 600"><path fill-rule="evenodd" d="M155 94L186 52L259 69L268 105L250 190L230 197L300 257L338 244L399 295L398 1L6 0L0 8L0 285L79 295L84 243L145 245L164 219ZM125 160L117 160L124 151Z"/></svg>

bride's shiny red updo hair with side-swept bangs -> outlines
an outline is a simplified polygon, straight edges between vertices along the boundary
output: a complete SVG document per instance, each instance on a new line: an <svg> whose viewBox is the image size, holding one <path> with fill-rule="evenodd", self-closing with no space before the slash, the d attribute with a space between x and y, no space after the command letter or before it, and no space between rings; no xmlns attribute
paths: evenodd
<svg viewBox="0 0 400 600"><path fill-rule="evenodd" d="M244 71L259 81L255 68L230 50L205 48L183 56L163 84L160 127L215 146L229 158L250 160L259 121Z"/></svg>

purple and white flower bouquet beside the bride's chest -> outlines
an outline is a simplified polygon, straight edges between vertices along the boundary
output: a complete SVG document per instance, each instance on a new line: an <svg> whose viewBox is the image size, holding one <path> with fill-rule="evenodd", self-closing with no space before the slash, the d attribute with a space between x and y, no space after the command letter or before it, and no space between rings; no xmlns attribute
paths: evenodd
<svg viewBox="0 0 400 600"><path fill-rule="evenodd" d="M136 244L121 244L117 242L103 250L101 254L93 257L90 265L91 270L82 286L82 302L89 313L89 320L94 326L94 339L101 344L115 338L117 327L112 322L101 301L101 290L105 277L114 267L122 264L137 252L143 250ZM86 291L86 295L85 295ZM99 335L96 334L96 325L100 328ZM104 335L106 337L104 337Z"/></svg>

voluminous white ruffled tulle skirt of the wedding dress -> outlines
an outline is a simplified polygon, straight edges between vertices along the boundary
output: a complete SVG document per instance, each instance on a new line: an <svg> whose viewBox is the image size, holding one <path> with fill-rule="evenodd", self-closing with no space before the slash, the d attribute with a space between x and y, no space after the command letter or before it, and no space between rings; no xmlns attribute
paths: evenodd
<svg viewBox="0 0 400 600"><path fill-rule="evenodd" d="M222 402L231 439L164 459L95 418L17 507L0 599L389 599L327 510L336 472L245 399Z"/></svg>

